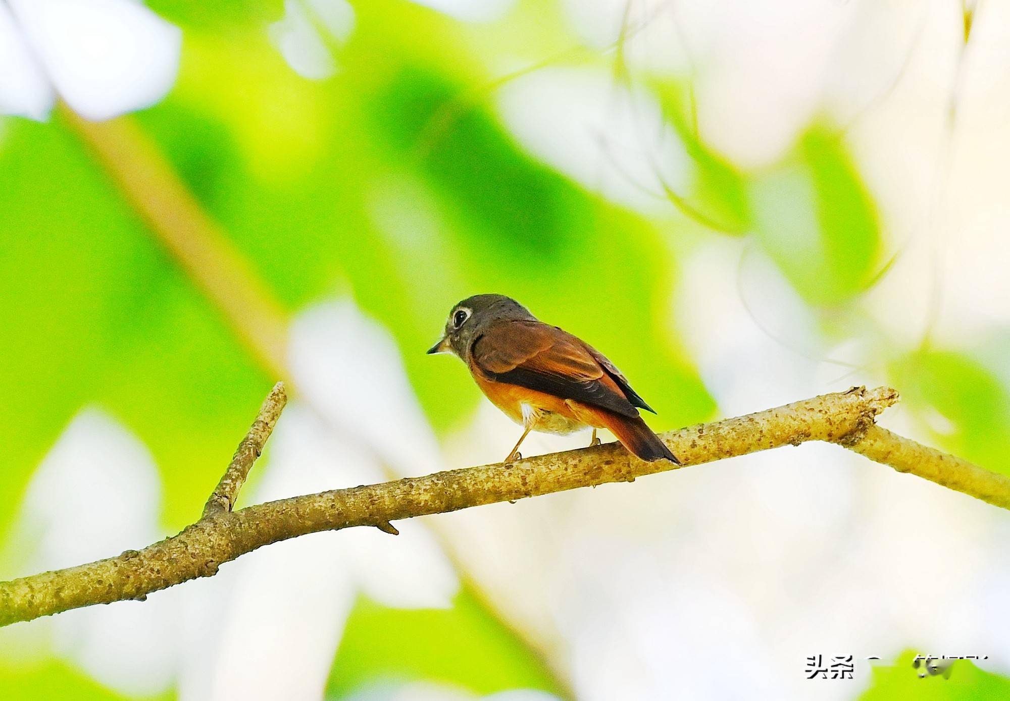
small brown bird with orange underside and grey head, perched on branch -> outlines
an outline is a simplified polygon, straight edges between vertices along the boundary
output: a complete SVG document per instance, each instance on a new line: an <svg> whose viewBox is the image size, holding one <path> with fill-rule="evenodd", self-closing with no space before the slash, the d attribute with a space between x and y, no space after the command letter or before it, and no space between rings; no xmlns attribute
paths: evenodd
<svg viewBox="0 0 1010 701"><path fill-rule="evenodd" d="M641 460L681 464L638 415L638 408L655 412L613 363L510 297L475 295L457 304L428 353L459 356L487 398L525 426L506 463L522 457L519 445L531 430L592 426L590 445L600 442L596 429L607 428Z"/></svg>

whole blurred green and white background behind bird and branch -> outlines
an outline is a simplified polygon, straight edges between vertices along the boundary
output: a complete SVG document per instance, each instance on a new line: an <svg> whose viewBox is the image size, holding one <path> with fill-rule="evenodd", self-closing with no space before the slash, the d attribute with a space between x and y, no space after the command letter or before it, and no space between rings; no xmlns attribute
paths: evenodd
<svg viewBox="0 0 1010 701"><path fill-rule="evenodd" d="M478 292L658 430L891 384L1010 472L1005 0L0 0L0 577L191 522L278 379L244 503L500 460ZM1010 516L836 446L397 526L4 628L0 698L1010 697Z"/></svg>

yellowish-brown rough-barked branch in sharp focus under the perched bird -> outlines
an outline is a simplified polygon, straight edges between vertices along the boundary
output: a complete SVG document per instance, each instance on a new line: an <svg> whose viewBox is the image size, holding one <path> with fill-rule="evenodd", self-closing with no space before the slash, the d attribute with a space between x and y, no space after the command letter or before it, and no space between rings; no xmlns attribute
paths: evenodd
<svg viewBox="0 0 1010 701"><path fill-rule="evenodd" d="M886 387L852 388L670 431L662 437L685 466L807 440L835 442L901 472L1010 508L1010 479L877 427L877 414L897 401L897 392ZM270 404L268 398L265 407ZM279 412L280 407L268 411ZM255 431L256 425L250 433ZM238 453L242 453L241 445ZM150 592L210 577L223 563L258 547L306 533L383 527L402 518L608 482L633 482L676 468L666 461L644 463L620 444L607 443L511 465L465 468L292 497L233 512L221 509L142 550L0 583L0 625L81 606L143 599ZM230 473L231 466L222 483Z"/></svg>

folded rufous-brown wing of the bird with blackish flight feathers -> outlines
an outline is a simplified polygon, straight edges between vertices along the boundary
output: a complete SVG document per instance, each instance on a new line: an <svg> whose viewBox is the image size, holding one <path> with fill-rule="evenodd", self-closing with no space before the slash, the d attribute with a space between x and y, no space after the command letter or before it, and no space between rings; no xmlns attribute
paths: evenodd
<svg viewBox="0 0 1010 701"><path fill-rule="evenodd" d="M496 382L573 399L623 416L638 415L620 384L594 353L557 326L539 321L499 321L474 341L471 361L479 372Z"/></svg>

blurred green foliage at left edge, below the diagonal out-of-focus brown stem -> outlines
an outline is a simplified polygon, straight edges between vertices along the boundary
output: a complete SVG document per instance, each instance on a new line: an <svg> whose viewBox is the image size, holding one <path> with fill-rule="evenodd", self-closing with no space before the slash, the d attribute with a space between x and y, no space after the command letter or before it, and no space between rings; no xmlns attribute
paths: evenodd
<svg viewBox="0 0 1010 701"><path fill-rule="evenodd" d="M59 124L12 122L0 149L11 187L0 276L0 383L20 397L0 411L17 504L71 417L97 403L136 431L163 470L170 523L192 519L269 378ZM73 188L65 185L73 183ZM56 232L56 233L54 233ZM43 370L44 369L44 370ZM43 370L43 372L40 372ZM16 417L16 419L15 419ZM6 526L16 510L0 510Z"/></svg>

